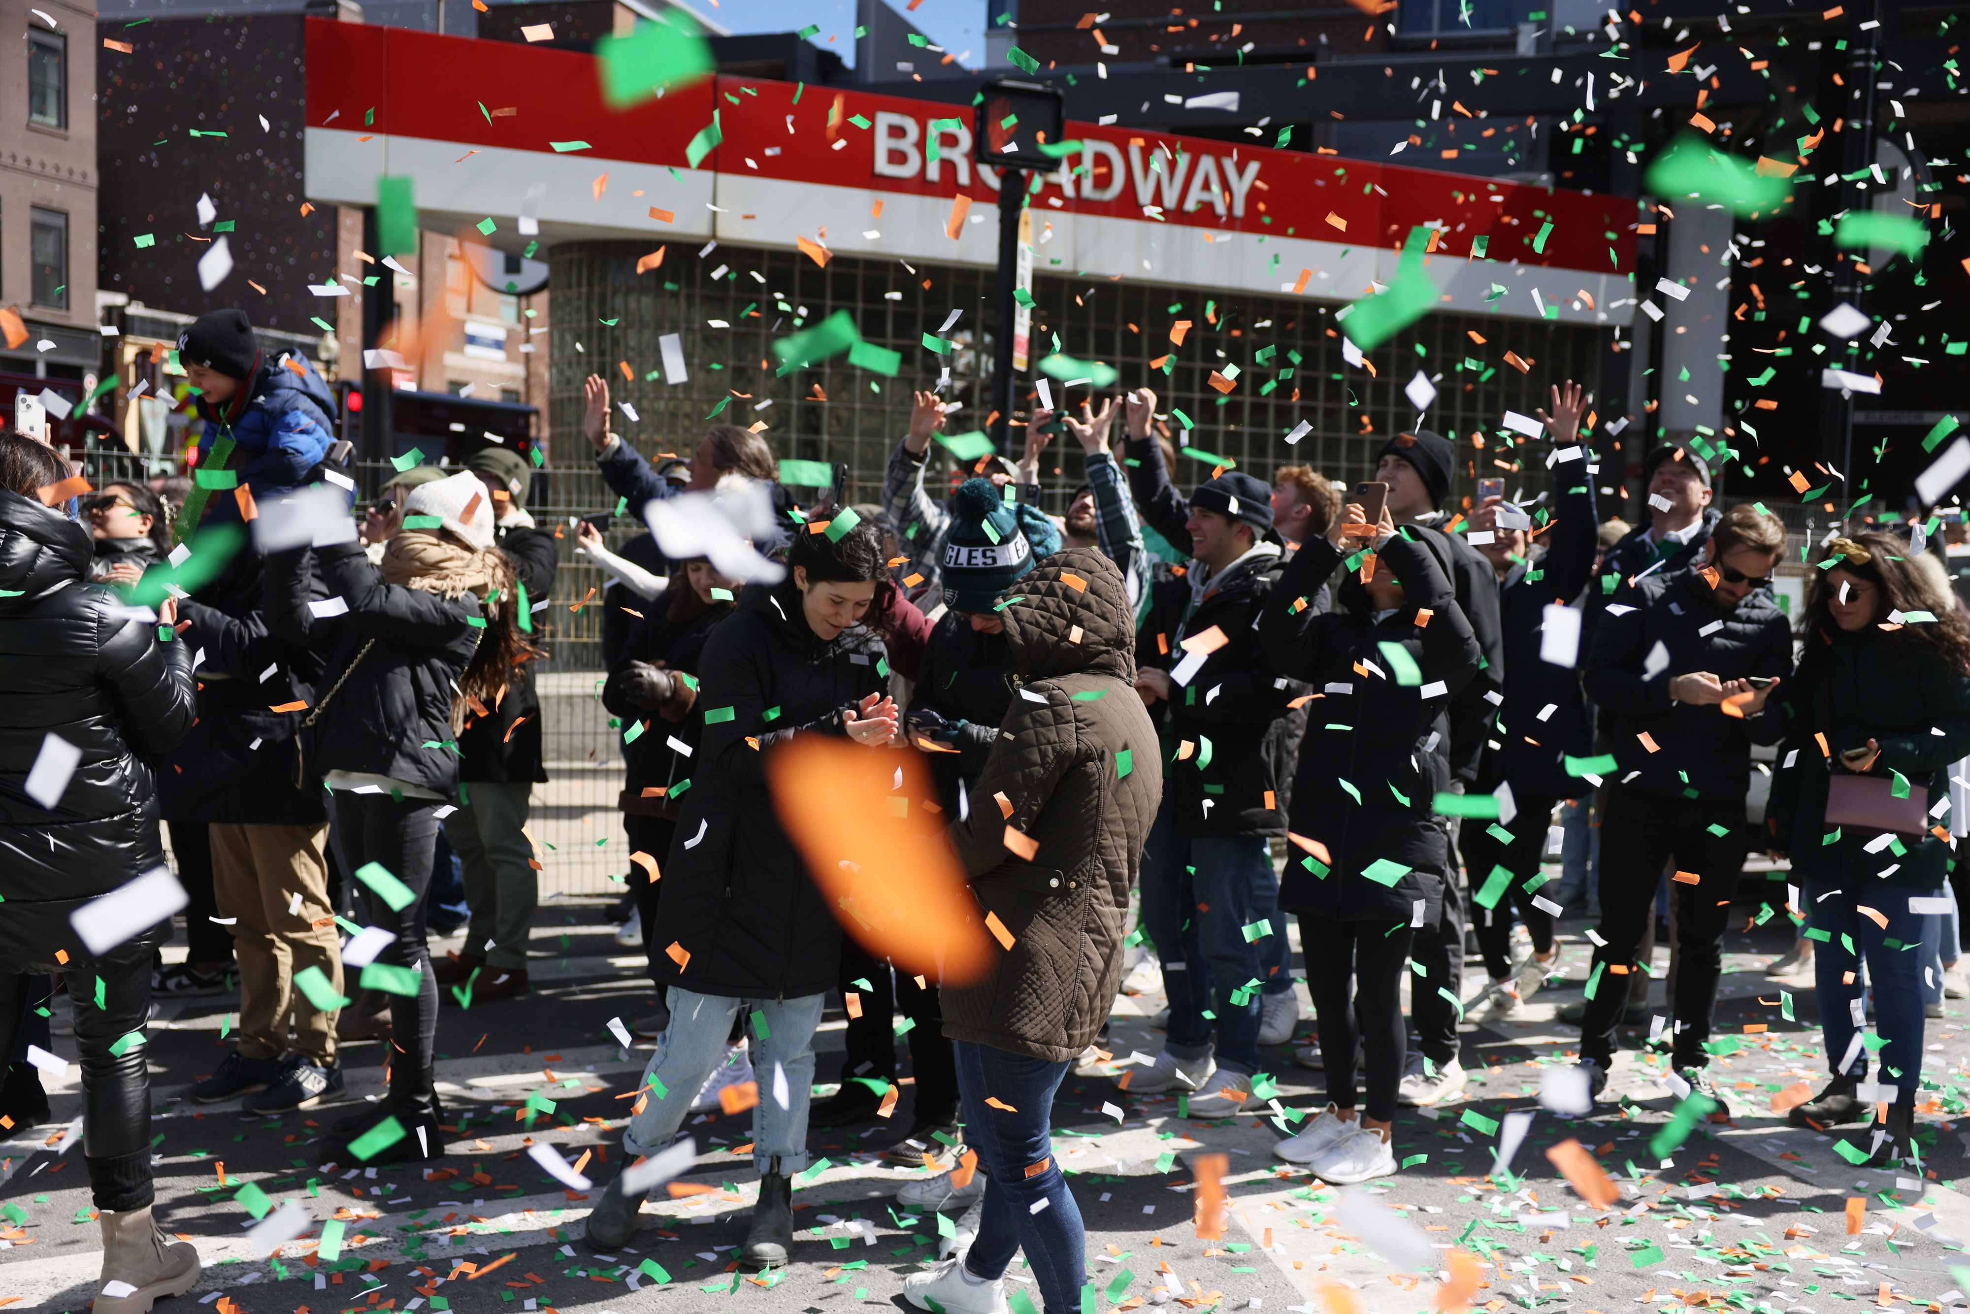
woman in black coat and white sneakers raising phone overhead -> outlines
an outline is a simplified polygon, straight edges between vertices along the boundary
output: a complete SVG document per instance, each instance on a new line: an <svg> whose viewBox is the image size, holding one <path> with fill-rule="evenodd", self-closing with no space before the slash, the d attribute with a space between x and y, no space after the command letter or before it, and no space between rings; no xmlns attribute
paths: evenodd
<svg viewBox="0 0 1970 1314"><path fill-rule="evenodd" d="M1371 548L1367 536L1342 538L1359 520L1361 508L1347 506L1330 528L1338 544L1302 544L1259 615L1273 670L1320 691L1292 782L1294 847L1279 906L1300 914L1332 1107L1275 1152L1336 1184L1395 1172L1389 1123L1407 1050L1401 979L1412 928L1432 926L1444 896L1450 837L1432 806L1450 786L1446 711L1479 660L1450 585L1446 540L1393 532L1387 514L1373 536L1371 579L1349 571L1332 613L1294 609L1347 554ZM1418 979L1414 989L1438 985ZM1357 1036L1367 1052L1361 1121Z"/></svg>

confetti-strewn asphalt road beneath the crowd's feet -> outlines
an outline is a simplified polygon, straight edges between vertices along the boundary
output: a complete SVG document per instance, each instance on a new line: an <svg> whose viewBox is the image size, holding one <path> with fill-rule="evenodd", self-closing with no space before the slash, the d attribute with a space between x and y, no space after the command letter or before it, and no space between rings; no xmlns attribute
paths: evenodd
<svg viewBox="0 0 1970 1314"><path fill-rule="evenodd" d="M1162 1304L1170 1290L1194 1310L1432 1310L1446 1259L1416 1247L1450 1245L1481 1259L1474 1304L1493 1314L1617 1314L1629 1306L1834 1314L1834 1300L1877 1310L1964 1304L1970 1271L1956 1277L1950 1265L1962 1261L1954 1237L1970 1239L1970 1198L1956 1190L1970 1162L1964 1133L1946 1113L1964 1107L1970 1026L1962 1003L1948 1003L1948 1017L1927 1040L1925 1076L1942 1084L1942 1103L1919 1119L1923 1178L1856 1168L1832 1139L1771 1115L1771 1091L1799 1080L1818 1084L1824 1074L1810 983L1787 983L1795 1015L1787 1020L1779 987L1761 969L1789 948L1789 936L1777 924L1734 934L1716 1030L1741 1044L1716 1064L1734 1117L1702 1125L1655 1156L1649 1143L1674 1097L1635 1050L1619 1056L1613 1074L1625 1103L1578 1123L1537 1103L1541 1068L1570 1062L1578 1042L1552 1015L1580 997L1584 930L1582 922L1564 924L1568 979L1535 997L1521 1018L1466 1024L1466 1095L1399 1117L1397 1152L1409 1166L1349 1204L1347 1223L1340 1221L1340 1192L1271 1156L1284 1135L1271 1109L1194 1123L1178 1117L1174 1099L1131 1097L1105 1072L1070 1078L1054 1107L1056 1152L1087 1221L1095 1310ZM902 1277L934 1259L940 1233L934 1217L896 1208L896 1188L926 1170L877 1162L902 1133L881 1121L810 1137L829 1166L796 1192L796 1255L780 1273L756 1277L733 1265L756 1178L751 1158L731 1147L751 1141L751 1115L711 1113L691 1125L705 1154L691 1180L711 1190L648 1204L632 1247L609 1259L581 1245L585 1196L544 1174L526 1149L550 1143L569 1160L593 1149L603 1162L617 1162L621 1095L636 1085L648 1046L624 1052L605 1024L646 1013L652 1001L648 983L634 975L638 952L617 948L611 932L601 900L550 900L534 934L534 993L445 1009L439 1080L461 1135L437 1180L427 1180L422 1164L325 1178L313 1143L341 1109L254 1119L236 1105L191 1105L183 1093L223 1056L219 1030L236 999L167 1005L150 1032L158 1214L165 1231L199 1247L205 1275L189 1298L158 1308L626 1314L668 1304L691 1314L823 1314L904 1306ZM1659 952L1661 965L1667 952ZM1111 1048L1119 1058L1158 1050L1149 1018L1160 1003L1158 993L1117 1003ZM1661 1007L1661 983L1655 1003ZM829 1052L841 1048L841 1013L831 1011L818 1042L821 1078L835 1074ZM1310 1017L1296 1042L1308 1034ZM1635 1038L1645 1034L1635 1030ZM55 1048L75 1054L67 1036L57 1036ZM347 1048L349 1103L382 1089L380 1060L378 1042ZM1324 1103L1322 1074L1296 1068L1290 1044L1271 1060L1282 1107ZM556 1111L530 1129L522 1119L534 1093L554 1099ZM4 1308L83 1310L97 1284L100 1241L81 1149L61 1147L81 1107L75 1068L55 1085L53 1103L53 1125L16 1129L0 1145ZM1119 1119L1103 1111L1109 1105ZM1489 1176L1495 1123L1521 1109L1531 1109L1533 1121L1509 1172L1523 1176ZM896 1123L908 1111L904 1093ZM1584 1143L1615 1178L1621 1202L1611 1212L1582 1202L1548 1162L1544 1150L1564 1139ZM1225 1235L1204 1241L1192 1223L1192 1160L1210 1152L1229 1160L1233 1208ZM254 1219L236 1200L246 1184L276 1204L297 1202L317 1223L341 1219L341 1259L315 1253L319 1227L274 1257L256 1253L244 1235ZM1856 1200L1862 1204L1852 1206ZM1353 1212L1361 1208L1371 1210L1365 1221ZM1013 1290L1036 1308L1038 1292L1020 1265L1013 1279Z"/></svg>

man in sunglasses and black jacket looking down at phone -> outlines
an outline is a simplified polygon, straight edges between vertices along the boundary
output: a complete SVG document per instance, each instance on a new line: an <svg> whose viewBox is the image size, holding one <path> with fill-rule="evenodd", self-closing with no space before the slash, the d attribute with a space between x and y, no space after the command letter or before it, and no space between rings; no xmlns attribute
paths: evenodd
<svg viewBox="0 0 1970 1314"><path fill-rule="evenodd" d="M1724 922L1749 849L1743 796L1751 745L1779 743L1785 717L1765 701L1793 670L1793 632L1771 595L1785 526L1755 506L1718 522L1698 563L1637 581L1613 603L1586 658L1588 695L1613 713L1615 778L1602 821L1602 924L1580 1022L1580 1068L1598 1097L1613 1028L1641 971L1635 946L1674 859L1676 991L1671 1066L1730 1113L1710 1080L1710 1015Z"/></svg>

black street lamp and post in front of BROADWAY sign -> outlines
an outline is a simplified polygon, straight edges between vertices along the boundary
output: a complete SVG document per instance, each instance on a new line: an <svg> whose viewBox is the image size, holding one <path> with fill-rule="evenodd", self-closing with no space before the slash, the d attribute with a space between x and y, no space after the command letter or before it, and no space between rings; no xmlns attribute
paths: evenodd
<svg viewBox="0 0 1970 1314"><path fill-rule="evenodd" d="M993 339L991 402L997 420L993 443L1009 449L1013 427L1013 374L1026 368L1026 337L1032 327L1032 238L1026 223L1026 175L1048 171L1058 162L1040 146L1058 146L1066 136L1068 106L1058 91L1038 83L985 83L977 102L971 140L981 165L999 169L999 329ZM1026 301L1018 294L1026 292Z"/></svg>

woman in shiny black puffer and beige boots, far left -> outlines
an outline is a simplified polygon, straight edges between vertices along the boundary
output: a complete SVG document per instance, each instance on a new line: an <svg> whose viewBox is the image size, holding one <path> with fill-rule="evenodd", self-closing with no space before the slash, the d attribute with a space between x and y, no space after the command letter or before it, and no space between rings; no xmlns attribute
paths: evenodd
<svg viewBox="0 0 1970 1314"><path fill-rule="evenodd" d="M146 758L185 737L195 703L185 644L158 642L156 626L85 587L89 530L35 496L67 475L53 449L0 433L0 1056L39 1003L24 973L67 971L102 1281L134 1288L97 1296L110 1314L148 1310L199 1277L197 1253L152 1223L150 1076L144 1046L118 1044L150 1015L152 950L171 922L93 953L69 918L164 867ZM165 603L162 621L175 619ZM51 784L32 772L57 741L79 760L49 802Z"/></svg>

